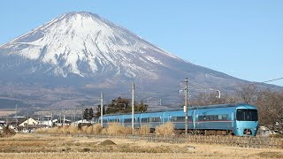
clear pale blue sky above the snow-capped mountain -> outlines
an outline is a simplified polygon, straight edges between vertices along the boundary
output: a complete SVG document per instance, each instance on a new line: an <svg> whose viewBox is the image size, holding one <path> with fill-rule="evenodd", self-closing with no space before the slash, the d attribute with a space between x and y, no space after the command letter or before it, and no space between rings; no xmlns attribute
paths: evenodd
<svg viewBox="0 0 283 159"><path fill-rule="evenodd" d="M281 0L5 0L0 44L68 11L94 12L177 57L240 79L283 77Z"/></svg>

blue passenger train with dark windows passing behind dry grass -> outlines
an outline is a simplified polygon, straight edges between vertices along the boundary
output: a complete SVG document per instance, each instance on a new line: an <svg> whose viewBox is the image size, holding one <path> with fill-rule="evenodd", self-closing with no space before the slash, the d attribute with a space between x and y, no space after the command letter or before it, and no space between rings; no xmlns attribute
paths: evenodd
<svg viewBox="0 0 283 159"><path fill-rule="evenodd" d="M256 136L258 116L255 106L249 104L219 104L210 106L190 107L187 111L188 129L198 134L233 134L236 136ZM99 117L99 122L101 117ZM103 116L103 127L109 123L132 125L131 114ZM157 125L171 122L175 129L184 131L185 113L183 110L162 112L146 112L134 114L134 127Z"/></svg>

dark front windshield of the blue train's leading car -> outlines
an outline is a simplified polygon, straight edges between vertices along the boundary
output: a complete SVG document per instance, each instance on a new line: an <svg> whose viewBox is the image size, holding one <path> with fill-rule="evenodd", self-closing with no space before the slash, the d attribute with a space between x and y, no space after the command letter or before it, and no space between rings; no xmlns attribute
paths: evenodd
<svg viewBox="0 0 283 159"><path fill-rule="evenodd" d="M257 110L246 110L239 109L237 110L236 117L238 121L257 121Z"/></svg>

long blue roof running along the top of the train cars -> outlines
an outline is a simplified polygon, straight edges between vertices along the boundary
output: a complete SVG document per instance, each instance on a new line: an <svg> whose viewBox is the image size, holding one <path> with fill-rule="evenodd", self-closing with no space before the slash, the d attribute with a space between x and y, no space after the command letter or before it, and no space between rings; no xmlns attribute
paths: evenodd
<svg viewBox="0 0 283 159"><path fill-rule="evenodd" d="M251 106L255 107L253 105L250 105L248 103L228 103L228 104L216 104L216 105L207 105L207 106L189 106L188 110L204 110L204 109L214 109L214 108L233 108L233 107L239 107L239 106ZM168 112L168 111L183 111L183 109L175 109L175 110L156 110L156 111L147 111L147 112L135 112L134 114L140 114L140 113L159 113L159 112ZM131 115L131 113L118 113L118 114L107 114L103 115L104 117L109 116L118 116L118 115Z"/></svg>

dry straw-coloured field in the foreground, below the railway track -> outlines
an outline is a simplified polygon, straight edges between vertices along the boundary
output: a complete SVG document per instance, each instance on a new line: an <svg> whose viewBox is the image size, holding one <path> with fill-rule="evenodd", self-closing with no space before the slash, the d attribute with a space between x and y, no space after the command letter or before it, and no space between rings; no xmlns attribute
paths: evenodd
<svg viewBox="0 0 283 159"><path fill-rule="evenodd" d="M282 149L231 148L143 140L16 134L0 139L0 158L283 158Z"/></svg>

